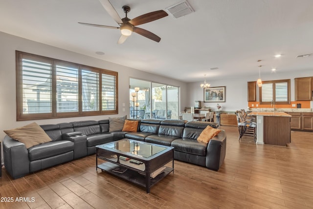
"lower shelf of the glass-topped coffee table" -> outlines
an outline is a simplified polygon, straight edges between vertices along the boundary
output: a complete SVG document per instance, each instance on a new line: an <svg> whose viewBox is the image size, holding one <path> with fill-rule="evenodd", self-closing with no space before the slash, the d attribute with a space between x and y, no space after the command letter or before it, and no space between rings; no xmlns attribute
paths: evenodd
<svg viewBox="0 0 313 209"><path fill-rule="evenodd" d="M134 183L135 185L145 187L147 190L147 193L150 192L150 187L158 183L161 179L163 179L165 176L167 176L169 173L173 172L173 168L166 167L165 170L158 174L155 178L150 178L150 185L146 184L146 177L144 175L139 174L137 171L134 171L132 169L127 169L124 173L118 173L112 171L114 168L119 167L120 165L114 164L114 163L102 163L98 165L98 168L101 169L101 171L106 171L114 176L117 176L121 179L124 179L128 182Z"/></svg>

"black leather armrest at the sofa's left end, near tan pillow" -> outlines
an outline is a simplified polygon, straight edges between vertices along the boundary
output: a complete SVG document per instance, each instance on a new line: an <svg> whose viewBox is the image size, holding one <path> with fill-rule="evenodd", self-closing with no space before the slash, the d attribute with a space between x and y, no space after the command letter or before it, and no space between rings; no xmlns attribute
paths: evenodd
<svg viewBox="0 0 313 209"><path fill-rule="evenodd" d="M5 169L17 179L29 173L28 150L22 142L5 136L3 139L3 159Z"/></svg>

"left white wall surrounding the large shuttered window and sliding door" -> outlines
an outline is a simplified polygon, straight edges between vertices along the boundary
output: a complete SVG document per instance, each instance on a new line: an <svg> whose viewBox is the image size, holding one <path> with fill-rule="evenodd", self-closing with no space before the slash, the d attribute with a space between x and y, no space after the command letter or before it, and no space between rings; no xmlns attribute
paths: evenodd
<svg viewBox="0 0 313 209"><path fill-rule="evenodd" d="M162 84L178 86L186 91L186 83L158 76L140 70L117 65L93 57L85 56L61 48L48 46L0 32L0 130L20 127L33 121L16 121L16 82L15 82L15 50L56 58L91 67L113 70L118 72L118 115L85 116L62 119L36 120L38 124L56 124L79 120L100 120L113 116L129 115L129 78L154 81ZM105 56L105 55L104 55ZM123 107L125 103L125 107ZM182 94L181 103L186 105L186 95ZM125 112L122 109L125 108ZM0 132L0 141L4 138Z"/></svg>

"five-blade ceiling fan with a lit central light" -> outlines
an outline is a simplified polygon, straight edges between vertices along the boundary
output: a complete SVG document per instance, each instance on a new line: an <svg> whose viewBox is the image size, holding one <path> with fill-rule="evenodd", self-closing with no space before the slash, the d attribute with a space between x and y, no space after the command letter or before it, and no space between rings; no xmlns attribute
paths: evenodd
<svg viewBox="0 0 313 209"><path fill-rule="evenodd" d="M154 12L149 12L143 15L140 15L134 19L129 19L127 18L127 13L131 11L131 8L129 6L123 6L122 9L124 10L126 17L121 19L110 3L109 0L100 0L102 6L105 8L105 10L109 13L109 15L113 18L113 20L119 24L119 27L114 27L114 26L108 26L108 25L101 25L101 24L90 24L90 23L80 23L84 25L89 25L89 26L95 26L95 27L106 27L106 28L112 28L112 29L120 29L121 30L121 37L119 38L117 44L122 44L125 42L128 36L132 34L132 32L138 33L148 39L151 39L156 42L160 42L161 38L158 37L156 34L142 29L140 27L136 27L136 25L139 24L144 24L144 23L149 23L161 18L164 18L168 16L168 14L163 11L163 10L158 10Z"/></svg>

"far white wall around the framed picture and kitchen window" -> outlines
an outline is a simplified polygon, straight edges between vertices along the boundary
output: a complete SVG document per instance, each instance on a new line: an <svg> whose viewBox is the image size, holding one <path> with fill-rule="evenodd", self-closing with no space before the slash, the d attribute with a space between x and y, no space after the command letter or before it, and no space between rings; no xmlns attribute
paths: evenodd
<svg viewBox="0 0 313 209"><path fill-rule="evenodd" d="M313 67L312 67L313 68ZM276 70L272 72L261 73L261 78L265 80L280 80L291 79L291 101L294 101L294 78L313 76L313 70L294 70L291 72L280 72ZM201 100L201 106L211 107L213 110L217 110L216 105L219 103L222 106L222 111L236 111L240 109L246 109L247 102L247 82L256 81L258 78L258 71L255 70L255 76L238 76L232 78L225 78L222 80L212 80L207 77L207 82L211 84L211 87L225 86L225 102L203 102L203 89L200 87L201 82L188 83L187 106L194 106L196 100ZM202 82L203 83L203 82ZM258 88L258 87L257 87ZM258 93L258 89L257 89ZM183 106L181 107L184 108ZM313 107L311 107L313 108Z"/></svg>

